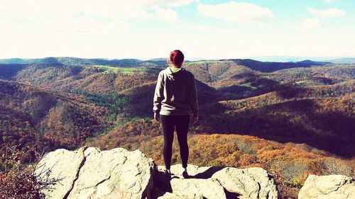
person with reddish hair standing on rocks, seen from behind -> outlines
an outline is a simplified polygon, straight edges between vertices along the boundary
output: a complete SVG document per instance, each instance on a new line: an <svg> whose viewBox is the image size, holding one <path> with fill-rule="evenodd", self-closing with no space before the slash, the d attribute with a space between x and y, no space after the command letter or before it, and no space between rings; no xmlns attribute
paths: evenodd
<svg viewBox="0 0 355 199"><path fill-rule="evenodd" d="M170 175L174 130L178 135L180 157L182 160L181 175L186 178L189 147L187 145L187 132L190 123L190 110L192 121L199 120L197 89L195 76L182 67L184 54L180 50L170 52L169 67L161 71L155 86L153 99L154 118L160 121L163 127L165 174Z"/></svg>

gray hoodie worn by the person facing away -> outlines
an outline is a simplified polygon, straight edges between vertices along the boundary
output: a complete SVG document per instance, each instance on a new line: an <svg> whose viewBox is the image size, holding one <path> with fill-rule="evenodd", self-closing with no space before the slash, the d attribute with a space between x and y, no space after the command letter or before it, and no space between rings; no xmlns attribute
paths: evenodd
<svg viewBox="0 0 355 199"><path fill-rule="evenodd" d="M153 99L153 112L160 115L198 116L199 108L195 76L186 69L171 72L170 68L158 75Z"/></svg>

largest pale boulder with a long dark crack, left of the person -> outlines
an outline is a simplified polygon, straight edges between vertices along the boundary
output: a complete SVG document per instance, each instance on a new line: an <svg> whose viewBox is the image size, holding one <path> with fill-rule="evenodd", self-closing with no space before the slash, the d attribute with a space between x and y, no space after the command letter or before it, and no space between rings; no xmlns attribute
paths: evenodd
<svg viewBox="0 0 355 199"><path fill-rule="evenodd" d="M58 178L43 190L47 198L150 198L153 166L140 151L116 148L100 151L83 147L71 152L58 149L43 157L35 175Z"/></svg>

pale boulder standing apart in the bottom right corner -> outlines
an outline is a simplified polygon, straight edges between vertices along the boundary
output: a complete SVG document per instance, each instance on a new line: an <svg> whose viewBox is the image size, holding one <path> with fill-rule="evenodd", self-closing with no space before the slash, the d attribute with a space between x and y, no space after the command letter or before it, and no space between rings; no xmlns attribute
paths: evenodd
<svg viewBox="0 0 355 199"><path fill-rule="evenodd" d="M355 198L355 180L342 175L308 176L298 199Z"/></svg>

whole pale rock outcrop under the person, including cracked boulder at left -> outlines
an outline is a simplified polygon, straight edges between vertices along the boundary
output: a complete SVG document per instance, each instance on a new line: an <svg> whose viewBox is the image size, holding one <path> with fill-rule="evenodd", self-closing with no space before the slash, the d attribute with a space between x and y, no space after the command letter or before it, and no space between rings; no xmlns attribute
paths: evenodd
<svg viewBox="0 0 355 199"><path fill-rule="evenodd" d="M175 175L166 176L138 150L83 147L46 154L35 174L45 178L50 171L60 180L43 190L47 198L278 198L273 178L261 168L189 165L188 178L178 175L180 169L173 165Z"/></svg>

